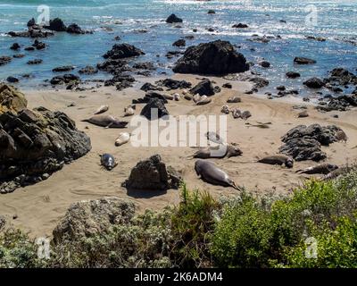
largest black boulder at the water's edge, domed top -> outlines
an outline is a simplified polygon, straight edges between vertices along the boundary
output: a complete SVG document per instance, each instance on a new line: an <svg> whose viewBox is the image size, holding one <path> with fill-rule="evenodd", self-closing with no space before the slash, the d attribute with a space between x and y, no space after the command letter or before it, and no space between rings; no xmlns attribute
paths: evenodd
<svg viewBox="0 0 357 286"><path fill-rule="evenodd" d="M180 73L223 75L249 70L245 56L228 41L190 46L172 69Z"/></svg>

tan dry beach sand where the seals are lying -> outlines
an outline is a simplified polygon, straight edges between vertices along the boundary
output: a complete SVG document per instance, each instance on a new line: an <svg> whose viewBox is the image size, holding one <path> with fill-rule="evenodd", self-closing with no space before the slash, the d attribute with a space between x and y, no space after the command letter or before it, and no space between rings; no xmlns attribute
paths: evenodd
<svg viewBox="0 0 357 286"><path fill-rule="evenodd" d="M175 75L175 79L198 82L195 76ZM145 79L153 81L157 79ZM227 80L216 80L219 86ZM330 147L322 147L328 154L328 162L345 164L354 162L357 157L357 110L345 113L335 112L321 114L308 105L310 117L298 119L293 105L302 104L295 98L268 100L263 97L253 97L243 94L248 89L246 83L231 81L232 89L222 88L219 95L212 97L209 105L195 106L193 102L181 99L171 101L167 108L172 115L179 114L220 114L222 105L228 97L239 96L242 103L228 104L249 110L253 116L246 122L271 122L269 129L248 127L241 119L233 119L228 115L228 142L236 142L243 150L243 156L212 159L240 186L245 186L251 192L262 194L268 191L287 193L301 185L307 175L295 173L296 170L315 163L297 162L293 169L281 166L255 163L258 157L272 155L281 146L280 137L287 130L298 124L320 123L322 125L336 124L345 130L349 137L347 143L334 143ZM98 106L110 105L108 114L121 116L123 108L131 103L133 98L143 97L145 93L138 88L128 88L116 91L114 88L98 88L95 92L72 92L66 90L26 91L29 107L43 105L51 110L61 110L76 121L79 130L84 130L91 138L92 150L79 160L64 166L55 172L48 180L26 188L16 189L11 194L0 196L0 214L4 214L15 226L21 227L33 237L50 236L55 224L74 202L84 199L116 196L134 200L139 211L145 209L161 209L164 206L179 202L179 191L170 189L164 193L140 192L128 193L121 187L121 182L129 177L131 168L141 159L159 153L166 164L172 165L182 173L189 188L209 191L213 196L234 195L236 189L222 188L207 184L195 174L195 159L189 159L195 149L191 147L132 147L129 144L121 147L114 146L114 140L120 131L118 129L104 129L80 120L93 114ZM67 107L75 103L75 106ZM304 104L306 105L306 104ZM137 105L139 114L144 105ZM338 114L339 118L332 118L331 114ZM129 129L130 130L130 129ZM107 172L99 165L98 154L111 153L119 161L119 165ZM12 216L17 218L12 220Z"/></svg>

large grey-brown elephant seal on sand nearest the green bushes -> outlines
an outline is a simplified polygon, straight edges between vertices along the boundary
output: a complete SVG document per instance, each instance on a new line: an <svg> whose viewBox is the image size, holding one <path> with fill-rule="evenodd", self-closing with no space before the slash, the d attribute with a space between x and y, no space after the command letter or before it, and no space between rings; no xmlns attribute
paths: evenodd
<svg viewBox="0 0 357 286"><path fill-rule="evenodd" d="M198 159L195 162L195 172L203 181L213 185L232 187L234 189L241 190L237 187L234 181L229 179L227 172L220 170L220 168L212 161Z"/></svg>

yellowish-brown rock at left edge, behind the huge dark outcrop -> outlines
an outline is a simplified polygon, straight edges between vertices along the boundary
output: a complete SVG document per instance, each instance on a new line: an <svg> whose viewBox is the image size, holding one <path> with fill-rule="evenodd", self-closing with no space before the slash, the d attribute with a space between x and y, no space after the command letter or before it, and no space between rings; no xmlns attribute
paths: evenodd
<svg viewBox="0 0 357 286"><path fill-rule="evenodd" d="M23 93L12 86L0 83L0 114L7 111L19 112L27 105L28 101Z"/></svg>

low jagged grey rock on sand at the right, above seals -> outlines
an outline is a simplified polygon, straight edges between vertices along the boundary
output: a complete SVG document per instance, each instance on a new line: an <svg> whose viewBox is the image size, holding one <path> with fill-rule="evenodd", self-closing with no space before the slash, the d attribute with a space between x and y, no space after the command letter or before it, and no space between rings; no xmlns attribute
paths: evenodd
<svg viewBox="0 0 357 286"><path fill-rule="evenodd" d="M337 142L336 135L340 130L335 125L326 127L319 124L296 126L282 138L285 144L279 148L279 152L292 156L296 161L326 159L327 155L321 151L320 147Z"/></svg>

